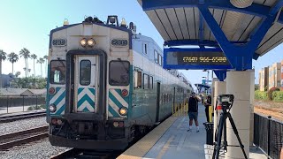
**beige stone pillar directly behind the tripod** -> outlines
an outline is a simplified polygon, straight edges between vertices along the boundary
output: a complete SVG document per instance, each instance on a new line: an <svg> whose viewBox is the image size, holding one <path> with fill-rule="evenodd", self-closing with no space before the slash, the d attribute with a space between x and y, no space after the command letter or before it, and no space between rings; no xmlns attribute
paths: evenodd
<svg viewBox="0 0 283 159"><path fill-rule="evenodd" d="M231 115L238 130L241 142L244 145L246 155L249 157L249 128L250 128L250 95L251 87L255 80L254 71L245 72L227 72L226 77L226 94L234 95L233 107ZM227 120L227 142L228 145L239 145L239 142L233 133L232 126ZM244 158L241 148L228 147L226 158Z"/></svg>

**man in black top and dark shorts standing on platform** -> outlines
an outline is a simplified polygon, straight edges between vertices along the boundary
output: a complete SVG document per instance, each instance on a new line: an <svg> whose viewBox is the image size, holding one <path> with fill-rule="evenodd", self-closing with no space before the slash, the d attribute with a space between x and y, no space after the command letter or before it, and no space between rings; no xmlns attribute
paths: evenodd
<svg viewBox="0 0 283 159"><path fill-rule="evenodd" d="M187 130L192 130L193 120L195 120L196 133L200 132L200 128L198 126L197 116L198 116L198 102L201 102L201 98L195 95L195 92L192 93L191 97L188 99L188 110L187 114L189 117L189 128Z"/></svg>

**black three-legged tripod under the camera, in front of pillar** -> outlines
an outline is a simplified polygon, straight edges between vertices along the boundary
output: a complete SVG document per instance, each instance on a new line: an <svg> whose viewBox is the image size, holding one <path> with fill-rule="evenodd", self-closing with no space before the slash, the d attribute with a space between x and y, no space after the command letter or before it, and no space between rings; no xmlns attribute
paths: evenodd
<svg viewBox="0 0 283 159"><path fill-rule="evenodd" d="M220 114L219 125L218 125L218 128L217 128L218 131L216 133L216 136L218 136L218 138L216 138L217 142L215 143L215 146L214 146L212 159L215 159L215 158L218 159L220 148L223 148L224 151L227 152L227 147L228 146L230 146L230 147L241 147L241 151L242 151L243 155L245 156L246 159L248 159L248 157L246 155L246 152L244 150L244 146L241 143L241 139L240 139L239 133L237 131L236 125L234 124L233 118L232 118L232 116L230 114L230 110L227 110L227 107L228 107L228 103L227 103L227 105L225 103L222 104L223 112ZM232 105L231 105L231 107L232 107ZM230 123L231 123L232 128L233 128L233 133L236 135L237 140L239 141L240 146L232 146L232 145L228 145L227 144L227 139L226 139L226 119L227 119L227 117L230 120ZM223 134L223 140L224 140L223 141L223 146L221 146L222 133L224 133Z"/></svg>

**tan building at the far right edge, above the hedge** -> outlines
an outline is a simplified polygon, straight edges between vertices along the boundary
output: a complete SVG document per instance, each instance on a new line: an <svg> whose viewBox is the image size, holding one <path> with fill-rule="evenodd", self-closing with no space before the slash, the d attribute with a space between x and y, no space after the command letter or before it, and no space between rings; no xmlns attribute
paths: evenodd
<svg viewBox="0 0 283 159"><path fill-rule="evenodd" d="M269 87L281 87L281 63L274 63L269 67Z"/></svg>

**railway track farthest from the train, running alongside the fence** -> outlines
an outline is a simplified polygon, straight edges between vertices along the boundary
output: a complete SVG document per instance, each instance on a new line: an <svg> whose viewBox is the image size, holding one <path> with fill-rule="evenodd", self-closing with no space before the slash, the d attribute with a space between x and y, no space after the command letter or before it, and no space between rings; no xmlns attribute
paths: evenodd
<svg viewBox="0 0 283 159"><path fill-rule="evenodd" d="M29 112L23 114L11 114L11 115L1 115L0 116L0 123L7 123L15 120L31 118L31 117L44 117L46 116L45 110L43 111L36 111L36 112Z"/></svg>

